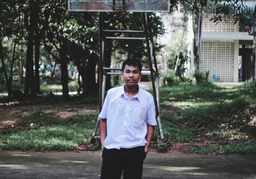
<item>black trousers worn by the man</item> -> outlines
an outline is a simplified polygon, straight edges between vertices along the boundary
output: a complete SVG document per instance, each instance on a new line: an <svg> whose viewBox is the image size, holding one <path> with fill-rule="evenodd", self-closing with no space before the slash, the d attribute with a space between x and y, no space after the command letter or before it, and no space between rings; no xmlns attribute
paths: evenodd
<svg viewBox="0 0 256 179"><path fill-rule="evenodd" d="M102 153L101 179L141 179L144 146L136 148L106 149Z"/></svg>

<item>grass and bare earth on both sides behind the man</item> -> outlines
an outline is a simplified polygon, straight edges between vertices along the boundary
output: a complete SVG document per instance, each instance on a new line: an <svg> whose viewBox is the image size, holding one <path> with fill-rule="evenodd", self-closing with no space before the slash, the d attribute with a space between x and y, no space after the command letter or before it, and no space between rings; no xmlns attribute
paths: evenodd
<svg viewBox="0 0 256 179"><path fill-rule="evenodd" d="M161 122L170 148L181 144L182 151L189 153L256 153L255 86L252 82L237 88L180 83L161 88ZM90 141L97 100L45 96L0 106L0 148L76 150Z"/></svg>

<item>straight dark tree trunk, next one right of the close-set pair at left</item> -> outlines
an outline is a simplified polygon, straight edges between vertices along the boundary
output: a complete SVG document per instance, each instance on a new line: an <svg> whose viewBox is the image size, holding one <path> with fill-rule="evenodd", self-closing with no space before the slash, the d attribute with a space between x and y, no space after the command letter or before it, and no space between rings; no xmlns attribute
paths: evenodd
<svg viewBox="0 0 256 179"><path fill-rule="evenodd" d="M63 42L60 49L60 68L61 68L61 85L62 98L67 99L68 95L68 68L67 68L67 44Z"/></svg>

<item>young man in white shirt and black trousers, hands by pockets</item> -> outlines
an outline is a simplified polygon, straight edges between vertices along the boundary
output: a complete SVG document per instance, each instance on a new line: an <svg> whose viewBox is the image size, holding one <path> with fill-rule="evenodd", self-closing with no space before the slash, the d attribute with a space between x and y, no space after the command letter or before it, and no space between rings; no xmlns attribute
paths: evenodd
<svg viewBox="0 0 256 179"><path fill-rule="evenodd" d="M141 89L140 61L122 64L124 86L109 89L100 118L101 179L140 179L156 123L154 98Z"/></svg>

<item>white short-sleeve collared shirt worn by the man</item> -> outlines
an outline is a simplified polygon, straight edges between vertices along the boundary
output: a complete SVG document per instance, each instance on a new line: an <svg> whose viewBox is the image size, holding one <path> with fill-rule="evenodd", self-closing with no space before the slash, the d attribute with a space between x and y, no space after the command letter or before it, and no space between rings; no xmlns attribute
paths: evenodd
<svg viewBox="0 0 256 179"><path fill-rule="evenodd" d="M147 141L147 124L157 125L154 98L139 88L138 93L127 98L124 86L108 90L99 118L107 120L107 137L104 147L134 148Z"/></svg>

